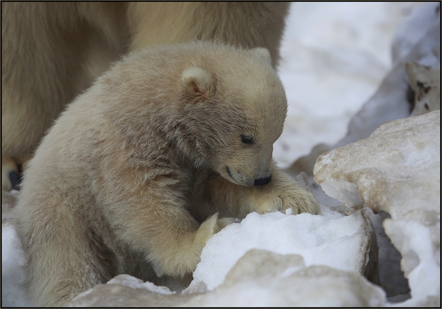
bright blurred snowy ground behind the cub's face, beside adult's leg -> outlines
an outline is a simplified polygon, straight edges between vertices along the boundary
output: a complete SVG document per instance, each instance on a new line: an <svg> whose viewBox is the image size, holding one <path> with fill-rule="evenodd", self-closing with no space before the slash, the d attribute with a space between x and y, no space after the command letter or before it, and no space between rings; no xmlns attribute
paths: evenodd
<svg viewBox="0 0 442 309"><path fill-rule="evenodd" d="M279 76L289 104L274 145L288 167L334 144L392 67L391 42L416 2L296 2L281 44Z"/></svg>

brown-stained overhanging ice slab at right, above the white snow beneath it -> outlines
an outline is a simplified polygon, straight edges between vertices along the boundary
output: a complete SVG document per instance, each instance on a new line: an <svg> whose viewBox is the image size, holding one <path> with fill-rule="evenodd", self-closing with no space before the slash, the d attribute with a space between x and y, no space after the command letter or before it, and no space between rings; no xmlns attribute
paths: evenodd
<svg viewBox="0 0 442 309"><path fill-rule="evenodd" d="M369 138L321 155L315 181L350 207L364 202L393 219L431 217L441 207L440 118L437 110L380 125Z"/></svg>

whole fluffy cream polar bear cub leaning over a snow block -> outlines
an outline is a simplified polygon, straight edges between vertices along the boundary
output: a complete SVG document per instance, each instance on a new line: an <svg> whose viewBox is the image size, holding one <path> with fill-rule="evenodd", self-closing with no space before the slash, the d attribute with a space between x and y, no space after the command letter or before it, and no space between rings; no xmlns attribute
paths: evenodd
<svg viewBox="0 0 442 309"><path fill-rule="evenodd" d="M208 42L148 49L68 106L30 160L16 206L38 305L120 273L155 282L151 264L190 273L229 217L319 213L272 162L287 102L269 59L263 48Z"/></svg>

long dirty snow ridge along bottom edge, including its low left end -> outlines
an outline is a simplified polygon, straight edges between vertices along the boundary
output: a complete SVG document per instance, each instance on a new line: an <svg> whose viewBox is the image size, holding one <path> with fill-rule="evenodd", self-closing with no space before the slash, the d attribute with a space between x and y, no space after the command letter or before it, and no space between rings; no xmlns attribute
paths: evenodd
<svg viewBox="0 0 442 309"><path fill-rule="evenodd" d="M118 276L116 278L119 278ZM381 307L385 291L355 272L328 266L305 267L299 255L253 249L229 271L222 285L205 293L154 294L125 276L97 285L67 307ZM112 286L113 288L108 288Z"/></svg>

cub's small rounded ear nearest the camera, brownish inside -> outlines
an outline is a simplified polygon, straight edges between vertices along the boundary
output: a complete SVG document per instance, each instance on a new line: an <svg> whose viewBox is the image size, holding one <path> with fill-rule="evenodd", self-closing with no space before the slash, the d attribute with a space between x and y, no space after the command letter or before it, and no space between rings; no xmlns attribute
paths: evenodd
<svg viewBox="0 0 442 309"><path fill-rule="evenodd" d="M190 67L181 76L186 92L193 98L204 100L215 94L215 78L200 67Z"/></svg>

